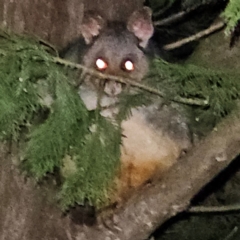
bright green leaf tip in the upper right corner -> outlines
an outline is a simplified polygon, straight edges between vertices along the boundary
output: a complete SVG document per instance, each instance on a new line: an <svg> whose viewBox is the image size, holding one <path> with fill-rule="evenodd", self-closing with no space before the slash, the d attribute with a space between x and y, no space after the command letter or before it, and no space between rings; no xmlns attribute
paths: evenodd
<svg viewBox="0 0 240 240"><path fill-rule="evenodd" d="M227 23L225 32L229 35L240 21L240 0L230 0L222 16Z"/></svg>

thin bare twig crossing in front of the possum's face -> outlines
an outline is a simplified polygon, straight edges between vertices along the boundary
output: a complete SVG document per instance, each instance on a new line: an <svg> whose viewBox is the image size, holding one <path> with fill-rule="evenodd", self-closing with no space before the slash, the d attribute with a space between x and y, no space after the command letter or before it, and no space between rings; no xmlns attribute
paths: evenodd
<svg viewBox="0 0 240 240"><path fill-rule="evenodd" d="M128 78L123 78L123 77L118 77L118 76L113 76L113 75L109 75L109 74L103 74L101 72L98 72L98 71L95 71L93 69L89 69L81 64L77 64L77 63L73 63L73 62L70 62L70 61L67 61L67 60L64 60L64 59L61 59L61 58L58 58L58 57L54 57L53 58L53 61L55 63L59 63L59 64L62 64L64 66L68 66L70 68L74 68L74 69L81 69L83 70L84 72L86 73L89 73L93 76L96 76L98 78L102 78L102 79L108 79L108 80L112 80L112 81L117 81L117 82L120 82L120 83L124 83L124 84L127 84L127 85L131 85L133 87L137 87L137 88L140 88L142 90L145 90L145 91L148 91L150 93L153 93L155 95L158 95L162 98L166 97L166 95L154 88L151 88L149 86L146 86L146 85L143 85L137 81L134 81L134 80L131 80L131 79L128 79ZM183 103L183 104L188 104L188 105L196 105L196 106L207 106L209 104L209 101L208 99L206 100L202 100L202 99L188 99L188 98L181 98L181 97L173 97L173 98L170 98L170 100L174 101L174 102L178 102L178 103Z"/></svg>

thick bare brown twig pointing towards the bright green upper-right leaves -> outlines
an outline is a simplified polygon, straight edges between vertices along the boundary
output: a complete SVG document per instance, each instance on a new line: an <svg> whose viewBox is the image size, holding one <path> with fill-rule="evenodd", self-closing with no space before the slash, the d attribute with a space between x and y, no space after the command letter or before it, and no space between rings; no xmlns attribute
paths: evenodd
<svg viewBox="0 0 240 240"><path fill-rule="evenodd" d="M172 50L172 49L181 47L182 45L184 45L186 43L189 43L189 42L192 42L192 41L196 41L196 40L198 40L200 38L208 36L211 33L216 32L216 31L222 29L224 26L225 26L224 22L215 23L215 24L211 25L209 28L207 28L207 29L205 29L203 31L200 31L200 32L198 32L195 35L192 35L192 36L187 37L187 38L183 38L183 39L181 39L181 40L179 40L177 42L174 42L174 43L167 44L163 48L165 50Z"/></svg>

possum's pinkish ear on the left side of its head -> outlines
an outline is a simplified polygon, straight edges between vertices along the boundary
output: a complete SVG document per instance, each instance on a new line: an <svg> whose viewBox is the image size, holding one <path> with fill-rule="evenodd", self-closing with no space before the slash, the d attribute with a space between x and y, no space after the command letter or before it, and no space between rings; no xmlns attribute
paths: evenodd
<svg viewBox="0 0 240 240"><path fill-rule="evenodd" d="M86 44L90 44L93 37L99 35L104 25L105 20L96 12L88 11L84 14L81 25L81 33Z"/></svg>

